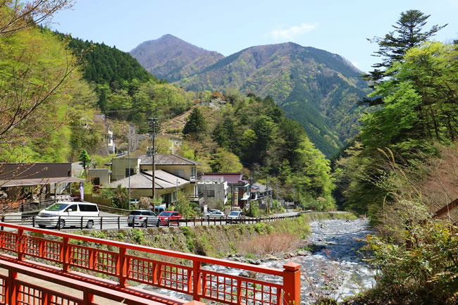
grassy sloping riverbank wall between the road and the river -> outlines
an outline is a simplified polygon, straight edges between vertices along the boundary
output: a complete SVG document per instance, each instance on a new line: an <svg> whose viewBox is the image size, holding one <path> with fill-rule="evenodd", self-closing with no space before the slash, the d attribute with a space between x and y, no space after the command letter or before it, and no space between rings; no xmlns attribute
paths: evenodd
<svg viewBox="0 0 458 305"><path fill-rule="evenodd" d="M208 225L195 227L161 227L132 230L82 230L78 234L141 244L216 258L236 254L238 245L255 237L285 232L304 239L311 234L309 223L314 220L353 220L351 213L304 213L297 218L250 225ZM157 259L163 259L156 257ZM166 258L167 259L167 258Z"/></svg>

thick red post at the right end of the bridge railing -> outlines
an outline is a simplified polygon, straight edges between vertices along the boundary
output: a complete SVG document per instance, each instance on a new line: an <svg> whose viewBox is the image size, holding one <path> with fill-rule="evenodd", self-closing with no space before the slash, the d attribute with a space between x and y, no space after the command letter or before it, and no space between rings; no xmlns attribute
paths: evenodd
<svg viewBox="0 0 458 305"><path fill-rule="evenodd" d="M299 263L283 265L283 304L301 304L301 270Z"/></svg>

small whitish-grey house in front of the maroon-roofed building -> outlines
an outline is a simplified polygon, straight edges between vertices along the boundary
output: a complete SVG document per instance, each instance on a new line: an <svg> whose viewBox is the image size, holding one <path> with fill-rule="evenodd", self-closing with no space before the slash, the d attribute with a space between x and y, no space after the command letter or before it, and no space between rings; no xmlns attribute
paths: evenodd
<svg viewBox="0 0 458 305"><path fill-rule="evenodd" d="M222 176L200 176L197 187L208 208L216 208L218 203L225 205L228 202L228 182Z"/></svg>

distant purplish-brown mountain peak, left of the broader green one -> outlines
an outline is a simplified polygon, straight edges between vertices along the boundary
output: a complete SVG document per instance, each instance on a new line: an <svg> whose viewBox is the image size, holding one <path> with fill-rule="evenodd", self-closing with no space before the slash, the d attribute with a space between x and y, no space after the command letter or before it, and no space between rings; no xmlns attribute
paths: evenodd
<svg viewBox="0 0 458 305"><path fill-rule="evenodd" d="M149 73L169 82L198 73L224 58L218 52L199 48L173 35L142 42L130 54Z"/></svg>

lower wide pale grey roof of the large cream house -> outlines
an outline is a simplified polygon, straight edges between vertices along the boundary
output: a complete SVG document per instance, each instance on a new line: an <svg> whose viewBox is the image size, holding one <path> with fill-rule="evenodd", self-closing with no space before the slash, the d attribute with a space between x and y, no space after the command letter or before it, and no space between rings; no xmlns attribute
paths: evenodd
<svg viewBox="0 0 458 305"><path fill-rule="evenodd" d="M130 188L131 189L151 189L153 184L152 177L151 177L152 170L149 170L144 173L131 175L130 176ZM155 170L155 178L154 180L156 187L155 189L171 189L173 187L181 187L182 185L187 185L189 181L180 178L178 176L172 175L171 173L167 173L163 170ZM120 180L116 180L111 182L106 187L113 188L121 185L121 187L129 187L129 178L123 178Z"/></svg>

